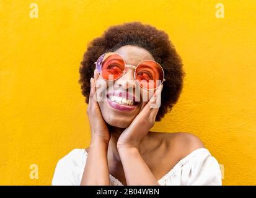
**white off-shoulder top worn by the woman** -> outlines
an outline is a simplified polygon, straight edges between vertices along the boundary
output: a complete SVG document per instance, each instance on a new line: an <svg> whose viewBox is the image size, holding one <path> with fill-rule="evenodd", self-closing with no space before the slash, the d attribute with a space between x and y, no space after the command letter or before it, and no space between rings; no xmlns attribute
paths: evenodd
<svg viewBox="0 0 256 198"><path fill-rule="evenodd" d="M87 156L85 149L74 149L61 158L56 165L51 184L80 185ZM109 178L111 186L123 186L111 174ZM196 149L180 160L158 183L161 186L221 185L221 170L218 161L207 149Z"/></svg>

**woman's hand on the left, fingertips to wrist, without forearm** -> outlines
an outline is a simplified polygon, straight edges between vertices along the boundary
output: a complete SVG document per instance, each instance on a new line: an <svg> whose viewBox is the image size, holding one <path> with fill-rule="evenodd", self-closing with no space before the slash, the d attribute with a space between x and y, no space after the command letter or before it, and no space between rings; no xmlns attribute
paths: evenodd
<svg viewBox="0 0 256 198"><path fill-rule="evenodd" d="M110 133L97 102L96 81L98 78L99 75L95 70L94 78L90 79L90 96L87 107L87 116L90 123L91 142L99 140L108 144L110 140Z"/></svg>

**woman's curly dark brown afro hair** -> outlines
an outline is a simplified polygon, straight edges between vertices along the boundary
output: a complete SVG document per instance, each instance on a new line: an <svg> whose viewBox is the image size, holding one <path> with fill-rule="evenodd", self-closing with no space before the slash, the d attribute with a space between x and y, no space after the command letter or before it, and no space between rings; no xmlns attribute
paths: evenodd
<svg viewBox="0 0 256 198"><path fill-rule="evenodd" d="M164 69L165 79L162 89L162 101L156 116L156 121L161 121L164 115L172 110L177 103L183 87L182 59L177 54L169 36L162 30L141 24L141 22L126 22L121 25L113 25L105 30L101 37L90 41L87 51L79 68L82 95L89 102L90 77L94 75L95 64L100 55L115 51L121 46L135 45L147 49L156 62Z"/></svg>

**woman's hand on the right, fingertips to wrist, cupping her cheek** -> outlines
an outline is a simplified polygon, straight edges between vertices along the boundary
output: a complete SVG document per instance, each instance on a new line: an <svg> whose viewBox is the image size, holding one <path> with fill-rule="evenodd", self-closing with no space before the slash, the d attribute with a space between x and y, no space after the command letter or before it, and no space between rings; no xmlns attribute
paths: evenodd
<svg viewBox="0 0 256 198"><path fill-rule="evenodd" d="M154 126L156 115L161 104L162 85L144 106L143 110L133 119L133 122L123 131L117 141L117 149L137 148ZM154 107L154 108L153 108Z"/></svg>

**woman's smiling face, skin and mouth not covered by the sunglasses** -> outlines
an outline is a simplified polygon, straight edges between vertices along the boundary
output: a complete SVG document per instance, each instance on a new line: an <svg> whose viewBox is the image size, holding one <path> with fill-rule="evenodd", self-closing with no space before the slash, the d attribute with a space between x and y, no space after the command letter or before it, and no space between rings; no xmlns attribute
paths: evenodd
<svg viewBox="0 0 256 198"><path fill-rule="evenodd" d="M126 64L133 66L137 66L139 62L145 60L154 61L149 51L138 46L122 46L115 52L125 59ZM135 69L126 67L125 74L119 79L113 80L112 84L107 82L105 90L100 90L106 93L105 96L102 95L103 98L99 101L100 111L105 121L111 126L128 127L148 102L144 100L145 97L143 96L146 95L146 98L150 98L152 95L152 91L149 92L149 90L136 84L134 72ZM99 79L103 80L102 74L100 74ZM129 100L125 97L126 95L129 95Z"/></svg>

